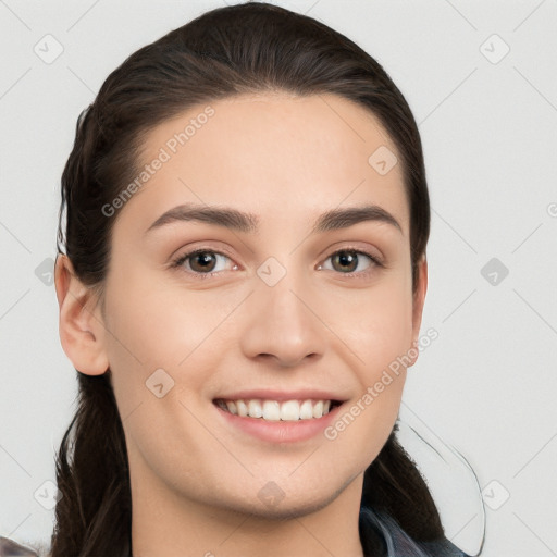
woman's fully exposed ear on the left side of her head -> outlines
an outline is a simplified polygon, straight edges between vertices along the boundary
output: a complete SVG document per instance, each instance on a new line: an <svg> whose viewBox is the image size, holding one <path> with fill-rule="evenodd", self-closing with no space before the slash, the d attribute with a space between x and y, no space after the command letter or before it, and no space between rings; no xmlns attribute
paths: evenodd
<svg viewBox="0 0 557 557"><path fill-rule="evenodd" d="M77 278L72 262L63 253L57 257L54 283L64 352L77 371L102 375L109 368L104 347L107 330L94 290Z"/></svg>

